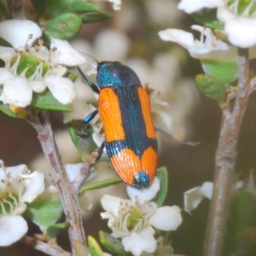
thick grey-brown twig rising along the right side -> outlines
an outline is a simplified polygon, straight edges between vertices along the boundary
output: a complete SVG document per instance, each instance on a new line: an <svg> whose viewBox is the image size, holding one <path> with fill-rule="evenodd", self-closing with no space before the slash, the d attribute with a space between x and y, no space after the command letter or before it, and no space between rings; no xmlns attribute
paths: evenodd
<svg viewBox="0 0 256 256"><path fill-rule="evenodd" d="M247 49L238 49L238 88L232 112L229 109L223 112L204 256L219 256L223 249L230 190L236 165L237 137L251 90Z"/></svg>

